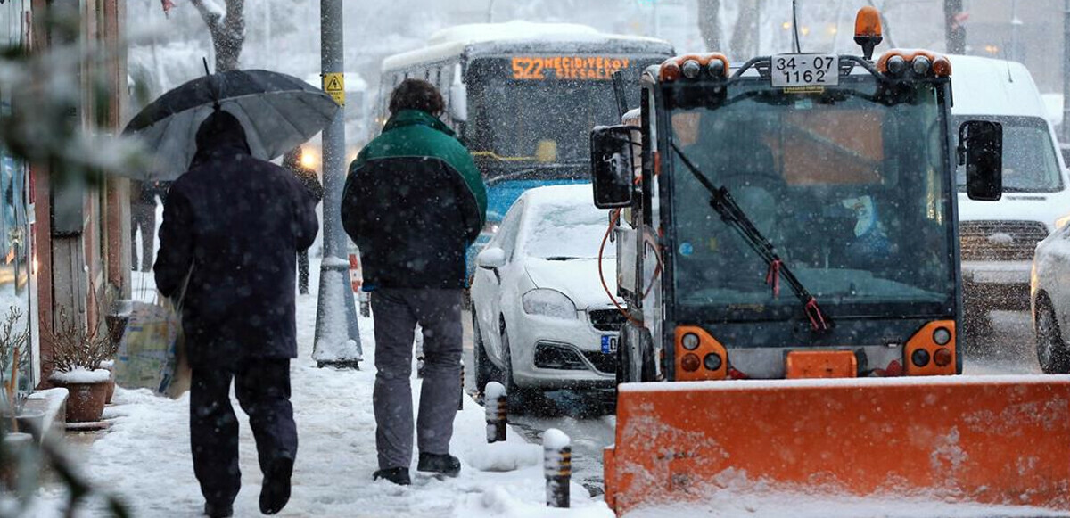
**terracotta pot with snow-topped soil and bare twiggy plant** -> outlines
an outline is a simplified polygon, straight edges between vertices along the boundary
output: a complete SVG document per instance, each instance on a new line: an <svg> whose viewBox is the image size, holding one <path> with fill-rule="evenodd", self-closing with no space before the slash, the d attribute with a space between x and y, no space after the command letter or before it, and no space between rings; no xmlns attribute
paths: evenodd
<svg viewBox="0 0 1070 518"><path fill-rule="evenodd" d="M100 320L81 325L63 309L60 309L56 329L43 331L52 346L48 362L52 372L48 380L68 392L66 421L101 421L111 383L111 372L103 368L103 364L116 354L111 336Z"/></svg>

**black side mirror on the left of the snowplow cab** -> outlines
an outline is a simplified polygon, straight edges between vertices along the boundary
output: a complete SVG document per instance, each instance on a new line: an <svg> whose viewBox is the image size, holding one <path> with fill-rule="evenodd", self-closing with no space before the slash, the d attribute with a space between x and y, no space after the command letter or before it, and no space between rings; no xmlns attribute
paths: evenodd
<svg viewBox="0 0 1070 518"><path fill-rule="evenodd" d="M602 126L591 132L591 174L595 207L631 207L635 173L630 126Z"/></svg>

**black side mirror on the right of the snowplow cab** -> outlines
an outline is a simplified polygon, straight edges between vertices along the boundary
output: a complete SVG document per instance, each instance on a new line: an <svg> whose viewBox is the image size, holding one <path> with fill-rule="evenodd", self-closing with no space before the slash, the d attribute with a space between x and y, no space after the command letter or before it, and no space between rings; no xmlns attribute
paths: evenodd
<svg viewBox="0 0 1070 518"><path fill-rule="evenodd" d="M1003 197L1003 124L966 121L959 126L959 165L966 166L966 196L997 201Z"/></svg>

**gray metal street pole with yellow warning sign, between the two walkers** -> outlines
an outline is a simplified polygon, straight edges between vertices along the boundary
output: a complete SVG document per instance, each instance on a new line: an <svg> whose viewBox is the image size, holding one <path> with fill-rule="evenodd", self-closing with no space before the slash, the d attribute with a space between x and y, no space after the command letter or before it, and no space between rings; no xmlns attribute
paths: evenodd
<svg viewBox="0 0 1070 518"><path fill-rule="evenodd" d="M320 51L323 90L346 104L342 0L320 0ZM323 262L316 307L312 360L319 367L357 368L361 332L349 280L347 238L341 226L341 189L346 182L346 119L338 110L323 130Z"/></svg>

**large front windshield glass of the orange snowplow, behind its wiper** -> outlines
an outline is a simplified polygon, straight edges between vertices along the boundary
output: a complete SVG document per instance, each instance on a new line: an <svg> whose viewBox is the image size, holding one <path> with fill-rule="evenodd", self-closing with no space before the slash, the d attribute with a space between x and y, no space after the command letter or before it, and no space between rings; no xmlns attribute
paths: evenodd
<svg viewBox="0 0 1070 518"><path fill-rule="evenodd" d="M719 105L673 111L672 138L731 193L823 308L843 318L893 315L904 303L952 307L950 179L936 87L883 102L865 80L816 94L783 94L759 81L730 92ZM801 313L791 293L775 293L765 262L674 161L678 304L754 319Z"/></svg>

